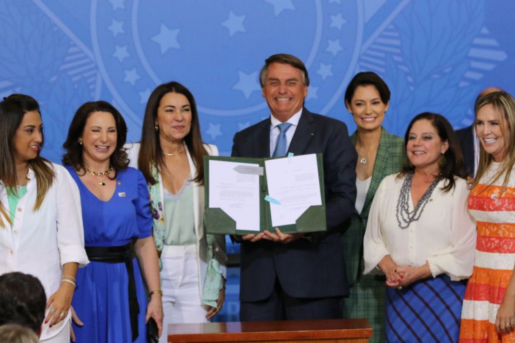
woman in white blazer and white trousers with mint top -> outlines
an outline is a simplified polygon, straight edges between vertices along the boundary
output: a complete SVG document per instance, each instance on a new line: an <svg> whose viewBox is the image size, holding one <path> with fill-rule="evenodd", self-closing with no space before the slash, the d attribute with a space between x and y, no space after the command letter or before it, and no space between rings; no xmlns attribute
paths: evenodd
<svg viewBox="0 0 515 343"><path fill-rule="evenodd" d="M192 93L178 82L157 86L130 160L137 161L150 191L165 325L205 322L225 299L225 237L206 235L203 226L208 154L217 155L218 149L202 142Z"/></svg>

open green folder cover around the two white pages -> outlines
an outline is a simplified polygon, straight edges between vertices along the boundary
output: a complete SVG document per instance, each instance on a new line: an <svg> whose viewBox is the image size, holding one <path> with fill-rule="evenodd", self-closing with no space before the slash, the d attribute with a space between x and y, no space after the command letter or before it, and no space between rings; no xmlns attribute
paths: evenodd
<svg viewBox="0 0 515 343"><path fill-rule="evenodd" d="M306 156L306 155L299 155ZM295 157L284 157L295 158ZM309 206L296 220L295 224L272 226L271 206L281 206L273 204L265 200L268 195L268 186L266 178L265 161L273 158L244 158L244 157L224 157L224 156L204 156L204 182L205 182L205 213L204 224L205 232L211 234L226 235L247 235L249 233L260 233L264 230L275 232L274 228L278 227L283 233L310 233L315 231L327 230L325 224L325 196L323 184L323 163L322 155L317 154L317 169L320 187L321 205ZM226 161L240 163L238 170L242 169L242 174L260 174L259 177L259 230L246 230L244 227L240 230L236 229L236 221L220 208L214 208L209 205L209 161ZM251 164L259 165L258 169L249 167ZM235 169L236 170L236 169ZM271 176L272 177L272 176ZM301 186L301 184L299 184ZM272 200L273 201L273 200ZM257 226L257 223L255 223Z"/></svg>

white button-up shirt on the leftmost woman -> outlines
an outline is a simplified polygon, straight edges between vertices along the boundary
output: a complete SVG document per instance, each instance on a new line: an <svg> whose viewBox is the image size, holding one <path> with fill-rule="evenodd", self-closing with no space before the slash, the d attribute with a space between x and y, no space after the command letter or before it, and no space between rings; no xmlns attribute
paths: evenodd
<svg viewBox="0 0 515 343"><path fill-rule="evenodd" d="M2 217L6 227L0 228L0 274L23 272L36 276L43 284L47 298L60 286L62 265L89 263L84 250L78 187L64 167L54 163L51 167L56 177L40 208L34 211L37 185L34 171L30 169L27 194L16 206L12 228L6 217ZM7 191L1 181L0 199L3 206L8 204ZM66 321L62 320L52 328L44 325L41 340L57 335Z"/></svg>

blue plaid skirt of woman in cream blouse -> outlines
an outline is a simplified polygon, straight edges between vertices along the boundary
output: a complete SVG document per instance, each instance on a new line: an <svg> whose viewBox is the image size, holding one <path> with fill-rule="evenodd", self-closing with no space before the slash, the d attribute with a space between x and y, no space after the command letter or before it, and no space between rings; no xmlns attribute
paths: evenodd
<svg viewBox="0 0 515 343"><path fill-rule="evenodd" d="M466 281L441 274L402 290L388 287L387 342L458 342Z"/></svg>

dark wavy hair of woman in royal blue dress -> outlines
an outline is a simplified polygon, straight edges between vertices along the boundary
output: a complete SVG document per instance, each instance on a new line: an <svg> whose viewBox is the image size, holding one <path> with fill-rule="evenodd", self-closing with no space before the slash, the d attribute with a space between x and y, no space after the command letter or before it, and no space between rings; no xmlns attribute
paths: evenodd
<svg viewBox="0 0 515 343"><path fill-rule="evenodd" d="M83 104L78 108L73 119L71 119L68 137L65 143L62 144L62 147L66 150L66 153L62 156L62 163L64 165L71 165L76 170L80 170L84 167L82 145L79 144L79 137L82 137L84 133L86 121L91 114L95 112L107 112L113 115L116 123L117 142L115 151L109 158L109 163L114 167L115 171L126 169L128 166L128 158L124 144L127 139L127 124L125 123L124 117L122 117L113 105L102 100Z"/></svg>

